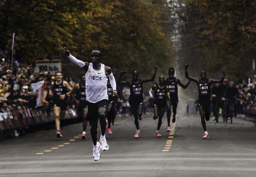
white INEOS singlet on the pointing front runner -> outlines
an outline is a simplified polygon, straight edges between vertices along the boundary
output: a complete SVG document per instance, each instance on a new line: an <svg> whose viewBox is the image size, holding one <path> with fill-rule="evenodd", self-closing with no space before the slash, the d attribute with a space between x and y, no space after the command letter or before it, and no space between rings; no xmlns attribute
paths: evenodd
<svg viewBox="0 0 256 177"><path fill-rule="evenodd" d="M107 95L107 76L105 74L105 65L101 64L101 69L95 71L90 63L86 80L86 100L90 103L97 103L101 100L108 100Z"/></svg>

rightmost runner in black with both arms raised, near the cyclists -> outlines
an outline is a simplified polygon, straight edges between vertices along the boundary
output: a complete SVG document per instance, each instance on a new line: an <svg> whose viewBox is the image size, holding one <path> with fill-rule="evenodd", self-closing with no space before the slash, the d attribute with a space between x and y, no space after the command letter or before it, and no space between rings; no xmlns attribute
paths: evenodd
<svg viewBox="0 0 256 177"><path fill-rule="evenodd" d="M204 128L204 136L203 138L209 138L208 132L206 130L206 121L210 120L210 106L211 106L211 84L212 83L222 83L226 73L222 71L222 79L221 80L214 80L214 79L207 79L206 72L203 70L200 73L201 79L193 78L188 75L187 68L189 65L187 64L185 66L185 76L189 80L192 80L193 82L197 83L198 85L198 102L199 102L199 113L201 115L201 122ZM204 120L205 119L205 120Z"/></svg>

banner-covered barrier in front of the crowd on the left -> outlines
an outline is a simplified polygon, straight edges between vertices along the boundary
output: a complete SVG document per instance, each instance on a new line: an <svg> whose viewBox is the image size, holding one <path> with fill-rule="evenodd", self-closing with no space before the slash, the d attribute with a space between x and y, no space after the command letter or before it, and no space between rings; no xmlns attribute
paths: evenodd
<svg viewBox="0 0 256 177"><path fill-rule="evenodd" d="M52 122L55 120L54 113L47 114L45 108L31 109L27 106L21 106L23 114L15 106L4 108L4 113L0 113L0 130L8 130L17 127L33 126ZM66 110L64 119L77 118L77 112L73 108Z"/></svg>

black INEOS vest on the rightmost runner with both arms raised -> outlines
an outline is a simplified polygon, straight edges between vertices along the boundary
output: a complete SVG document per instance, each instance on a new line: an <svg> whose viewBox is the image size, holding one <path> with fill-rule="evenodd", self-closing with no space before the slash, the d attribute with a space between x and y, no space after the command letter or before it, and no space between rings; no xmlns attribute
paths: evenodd
<svg viewBox="0 0 256 177"><path fill-rule="evenodd" d="M198 83L198 93L199 100L201 101L210 101L211 98L211 87L209 84L209 79L205 79L205 82L202 82L202 79Z"/></svg>

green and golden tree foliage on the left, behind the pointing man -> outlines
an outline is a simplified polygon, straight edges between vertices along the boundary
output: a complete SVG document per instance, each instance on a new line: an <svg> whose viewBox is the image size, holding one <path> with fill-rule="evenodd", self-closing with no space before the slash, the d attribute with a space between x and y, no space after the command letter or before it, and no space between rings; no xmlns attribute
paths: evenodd
<svg viewBox="0 0 256 177"><path fill-rule="evenodd" d="M166 73L173 59L165 1L34 0L0 2L0 49L10 50L15 32L16 60L62 59L66 75L83 72L64 56L66 46L90 62L94 49L115 73L137 70L150 77L156 66ZM155 8L161 6L162 8ZM168 63L166 65L166 63Z"/></svg>

